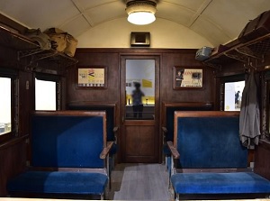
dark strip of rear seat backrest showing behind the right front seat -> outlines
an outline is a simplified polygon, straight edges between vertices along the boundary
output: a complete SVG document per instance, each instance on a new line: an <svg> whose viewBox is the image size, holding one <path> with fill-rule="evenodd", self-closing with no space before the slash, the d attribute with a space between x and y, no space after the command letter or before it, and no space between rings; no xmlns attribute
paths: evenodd
<svg viewBox="0 0 270 201"><path fill-rule="evenodd" d="M173 106L166 107L166 141L174 140L174 114L175 111L211 111L211 106Z"/></svg>

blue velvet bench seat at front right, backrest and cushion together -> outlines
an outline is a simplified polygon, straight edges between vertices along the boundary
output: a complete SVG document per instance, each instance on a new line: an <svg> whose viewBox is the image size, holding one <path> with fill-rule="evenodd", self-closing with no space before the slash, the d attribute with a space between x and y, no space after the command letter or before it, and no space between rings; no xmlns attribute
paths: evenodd
<svg viewBox="0 0 270 201"><path fill-rule="evenodd" d="M270 194L270 181L247 169L248 152L239 140L238 113L175 112L175 123L174 146L180 158L175 161L178 171L171 183L178 196Z"/></svg>

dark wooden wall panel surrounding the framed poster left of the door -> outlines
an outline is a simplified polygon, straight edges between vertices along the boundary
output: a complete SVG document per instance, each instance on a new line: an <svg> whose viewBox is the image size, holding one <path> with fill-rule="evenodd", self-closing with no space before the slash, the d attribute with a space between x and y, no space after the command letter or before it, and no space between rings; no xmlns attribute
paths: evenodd
<svg viewBox="0 0 270 201"><path fill-rule="evenodd" d="M76 53L79 60L74 68L67 71L67 102L111 102L115 103L119 99L119 62L117 53L108 52L83 52ZM77 67L106 67L107 68L107 88L91 89L76 88Z"/></svg>

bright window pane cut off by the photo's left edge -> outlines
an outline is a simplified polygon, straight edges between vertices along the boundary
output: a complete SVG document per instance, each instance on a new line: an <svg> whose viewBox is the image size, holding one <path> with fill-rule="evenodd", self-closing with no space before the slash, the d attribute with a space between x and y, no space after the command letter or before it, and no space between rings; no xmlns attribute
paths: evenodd
<svg viewBox="0 0 270 201"><path fill-rule="evenodd" d="M12 128L12 79L0 77L0 135Z"/></svg>

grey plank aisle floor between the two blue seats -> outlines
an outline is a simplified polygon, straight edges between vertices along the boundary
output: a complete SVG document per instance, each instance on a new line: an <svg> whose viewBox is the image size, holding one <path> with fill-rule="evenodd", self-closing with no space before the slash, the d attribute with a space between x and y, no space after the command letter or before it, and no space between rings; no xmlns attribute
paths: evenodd
<svg viewBox="0 0 270 201"><path fill-rule="evenodd" d="M163 164L119 164L112 171L112 200L172 200Z"/></svg>

